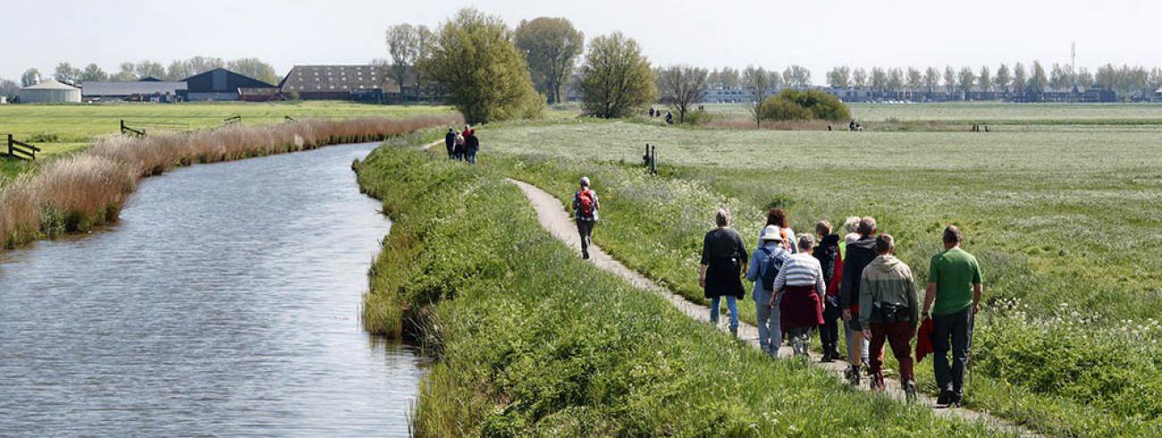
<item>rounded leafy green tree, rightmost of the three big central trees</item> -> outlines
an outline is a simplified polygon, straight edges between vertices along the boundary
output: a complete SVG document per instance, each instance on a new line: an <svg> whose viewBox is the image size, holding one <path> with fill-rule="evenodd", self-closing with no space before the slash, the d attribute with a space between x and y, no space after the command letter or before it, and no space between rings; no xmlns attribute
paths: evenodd
<svg viewBox="0 0 1162 438"><path fill-rule="evenodd" d="M586 112L612 119L650 105L658 95L653 76L650 59L633 38L622 33L593 38L581 66Z"/></svg>

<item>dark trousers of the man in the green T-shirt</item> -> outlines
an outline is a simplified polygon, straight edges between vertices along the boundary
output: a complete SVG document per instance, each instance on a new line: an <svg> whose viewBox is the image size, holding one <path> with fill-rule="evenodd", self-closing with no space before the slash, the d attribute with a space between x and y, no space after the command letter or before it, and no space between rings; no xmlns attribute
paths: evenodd
<svg viewBox="0 0 1162 438"><path fill-rule="evenodd" d="M968 367L968 354L971 347L973 309L932 316L932 366L937 374L937 387L940 390L952 390L963 394L964 368ZM951 343L949 343L951 340ZM952 364L948 364L948 350L952 349Z"/></svg>

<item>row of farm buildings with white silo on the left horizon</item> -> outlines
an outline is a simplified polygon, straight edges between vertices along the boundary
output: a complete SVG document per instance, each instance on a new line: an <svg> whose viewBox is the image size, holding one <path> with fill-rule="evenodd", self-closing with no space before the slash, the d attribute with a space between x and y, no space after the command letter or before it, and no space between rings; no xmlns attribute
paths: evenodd
<svg viewBox="0 0 1162 438"><path fill-rule="evenodd" d="M53 79L20 89L19 101L37 102L179 102L353 100L382 102L400 95L400 86L378 65L299 65L278 85L215 69L179 81L143 78L131 82L89 81L73 86Z"/></svg>

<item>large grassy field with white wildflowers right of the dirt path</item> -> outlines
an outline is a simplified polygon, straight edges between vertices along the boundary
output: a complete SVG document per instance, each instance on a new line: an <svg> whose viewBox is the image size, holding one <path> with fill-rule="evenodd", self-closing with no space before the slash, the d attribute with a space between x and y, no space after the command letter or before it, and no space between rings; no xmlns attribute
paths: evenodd
<svg viewBox="0 0 1162 438"><path fill-rule="evenodd" d="M482 130L482 163L562 199L582 174L602 194L595 239L694 300L697 251L727 206L754 244L762 211L792 227L873 215L923 281L947 223L982 261L970 404L1054 435L1162 431L1162 137L1059 132L801 132L626 122ZM658 143L660 178L644 175ZM753 310L745 306L748 318ZM921 386L932 387L924 364Z"/></svg>

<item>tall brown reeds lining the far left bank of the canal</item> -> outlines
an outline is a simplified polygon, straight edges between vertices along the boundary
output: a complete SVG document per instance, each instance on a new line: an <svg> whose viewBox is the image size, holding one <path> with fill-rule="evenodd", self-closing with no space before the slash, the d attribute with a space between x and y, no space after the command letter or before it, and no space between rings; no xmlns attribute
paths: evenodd
<svg viewBox="0 0 1162 438"><path fill-rule="evenodd" d="M41 166L34 175L0 185L0 249L115 222L139 179L178 166L378 142L433 125L462 123L459 115L306 120L144 138L107 137L85 152Z"/></svg>

